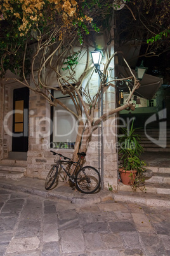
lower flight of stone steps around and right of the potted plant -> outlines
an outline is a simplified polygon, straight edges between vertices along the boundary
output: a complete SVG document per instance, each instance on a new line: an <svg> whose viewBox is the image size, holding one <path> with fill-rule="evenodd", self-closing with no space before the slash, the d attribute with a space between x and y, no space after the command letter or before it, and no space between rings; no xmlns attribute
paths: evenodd
<svg viewBox="0 0 170 256"><path fill-rule="evenodd" d="M145 152L141 159L147 163L147 168L152 171L152 177L145 180L147 193L170 195L170 152ZM128 185L119 183L119 190L131 191ZM137 192L141 192L137 190Z"/></svg>

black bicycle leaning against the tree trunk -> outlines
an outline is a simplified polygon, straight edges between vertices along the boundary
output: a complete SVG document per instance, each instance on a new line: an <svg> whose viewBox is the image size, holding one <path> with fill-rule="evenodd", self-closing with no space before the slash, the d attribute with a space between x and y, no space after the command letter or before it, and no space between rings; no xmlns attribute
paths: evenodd
<svg viewBox="0 0 170 256"><path fill-rule="evenodd" d="M67 176L69 176L69 180L72 183L74 183L77 190L81 191L82 193L93 194L94 192L96 192L96 190L98 190L98 188L100 187L100 181L101 181L100 173L98 172L98 170L95 169L95 167L92 167L92 166L82 167L80 163L81 157L85 157L86 153L84 152L77 153L77 155L79 156L79 160L77 162L74 162L69 157L65 157L61 153L56 153L52 150L50 150L50 152L52 152L53 155L59 155L59 159L53 165L53 167L51 168L51 170L49 171L46 177L46 182L45 182L46 190L49 190L50 188L53 189L55 187L55 180L58 175L59 167L62 167L62 169L67 174ZM66 171L62 163L76 164L73 173L70 174L69 171ZM76 171L77 167L79 167L78 171Z"/></svg>

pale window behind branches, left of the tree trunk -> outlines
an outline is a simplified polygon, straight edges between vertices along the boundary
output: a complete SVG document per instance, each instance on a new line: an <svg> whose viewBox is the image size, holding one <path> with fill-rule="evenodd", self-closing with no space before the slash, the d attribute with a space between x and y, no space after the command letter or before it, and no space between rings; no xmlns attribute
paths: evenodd
<svg viewBox="0 0 170 256"><path fill-rule="evenodd" d="M61 92L54 91L54 97L60 99L70 110L74 111L75 106L69 94L63 95ZM52 134L51 145L53 148L74 148L77 137L77 120L69 111L59 104L51 107Z"/></svg>

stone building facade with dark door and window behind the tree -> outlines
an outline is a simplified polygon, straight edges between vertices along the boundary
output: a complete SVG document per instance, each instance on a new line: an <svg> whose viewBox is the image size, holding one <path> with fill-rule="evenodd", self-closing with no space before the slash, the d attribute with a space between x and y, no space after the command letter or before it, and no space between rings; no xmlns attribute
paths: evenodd
<svg viewBox="0 0 170 256"><path fill-rule="evenodd" d="M100 43L105 42L100 38ZM103 45L102 48L105 48ZM114 53L114 42L108 46L108 56ZM103 64L105 59L103 59ZM100 68L103 71L104 65ZM81 75L84 59L79 62L75 74ZM11 78L6 80L6 78ZM4 159L25 160L27 171L25 176L45 179L51 164L54 162L50 150L60 152L67 157L74 151L76 136L76 121L67 111L50 104L33 90L16 82L11 73L1 80L1 113L0 113L0 162ZM14 78L14 79L13 79ZM108 69L108 82L114 78L114 59ZM57 86L55 78L51 75L50 83ZM100 78L93 73L88 81L90 95L95 95ZM34 87L32 77L29 78L30 87ZM86 90L86 85L84 90ZM65 104L70 104L69 98L60 94L55 96L62 98ZM102 111L106 113L115 108L115 87L109 86L103 90L103 106L96 108L96 118ZM84 101L86 101L84 99ZM101 109L102 108L102 109ZM55 116L56 113L56 116ZM69 132L68 132L69 129ZM70 132L71 130L71 132ZM117 128L116 116L107 117L104 122L93 132L86 155L86 165L96 167L101 173L103 187L108 184L117 189Z"/></svg>

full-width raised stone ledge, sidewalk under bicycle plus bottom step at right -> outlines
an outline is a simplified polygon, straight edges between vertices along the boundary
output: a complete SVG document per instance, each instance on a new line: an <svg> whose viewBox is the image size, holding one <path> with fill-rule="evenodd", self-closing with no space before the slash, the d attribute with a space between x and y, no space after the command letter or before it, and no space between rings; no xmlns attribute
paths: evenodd
<svg viewBox="0 0 170 256"><path fill-rule="evenodd" d="M82 194L68 185L63 185L63 183L59 183L55 189L47 191L44 188L44 180L39 180L36 178L33 179L24 177L20 180L1 178L0 189L1 188L6 188L15 192L20 191L27 194L37 195L46 199L60 199L69 201L73 204L96 204L112 199L119 202L140 203L148 206L162 206L167 208L170 207L170 196L166 194L152 194L132 191L110 192L108 190L101 190L98 193L88 195ZM4 197L8 197L8 194L5 194Z"/></svg>

